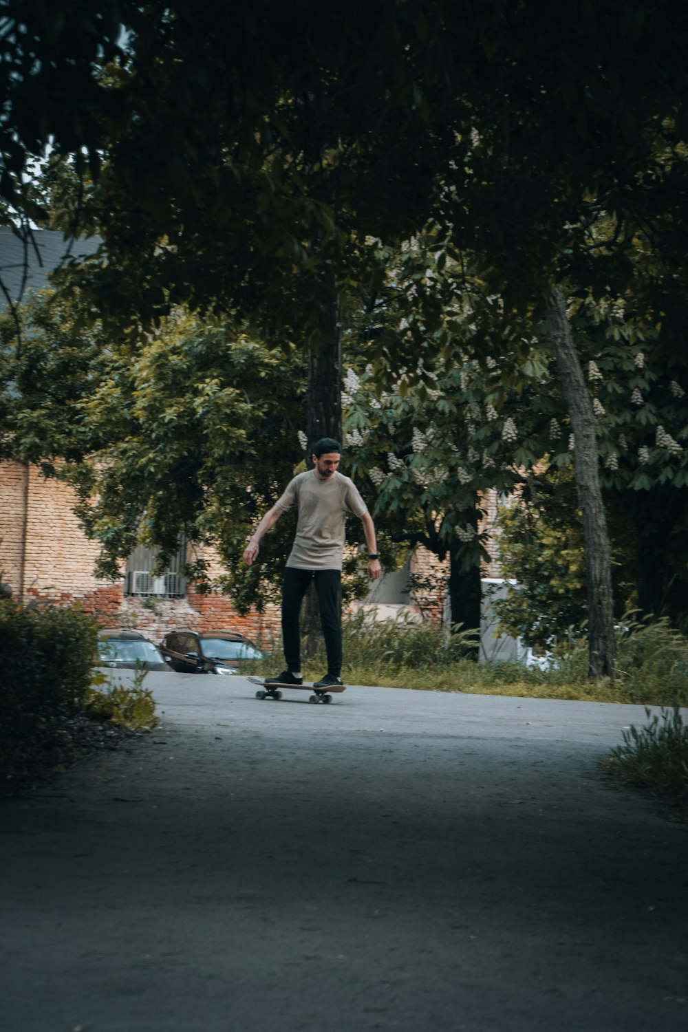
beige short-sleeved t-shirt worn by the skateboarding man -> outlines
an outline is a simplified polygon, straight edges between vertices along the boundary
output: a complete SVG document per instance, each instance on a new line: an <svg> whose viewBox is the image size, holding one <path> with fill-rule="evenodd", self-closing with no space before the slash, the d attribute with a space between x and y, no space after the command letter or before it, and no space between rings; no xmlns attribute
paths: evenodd
<svg viewBox="0 0 688 1032"><path fill-rule="evenodd" d="M368 508L353 480L334 473L319 480L315 471L299 473L277 498L277 509L298 507L294 546L287 559L297 570L341 570L347 513L363 516Z"/></svg>

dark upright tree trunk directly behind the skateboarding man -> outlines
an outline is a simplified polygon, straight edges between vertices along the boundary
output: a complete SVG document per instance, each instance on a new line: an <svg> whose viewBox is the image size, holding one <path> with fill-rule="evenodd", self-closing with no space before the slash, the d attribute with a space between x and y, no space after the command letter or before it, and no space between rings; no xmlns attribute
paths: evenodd
<svg viewBox="0 0 688 1032"><path fill-rule="evenodd" d="M320 340L308 349L308 404L306 467L313 469L313 446L321 438L341 441L341 324L334 267L325 264L320 310ZM312 584L301 607L303 654L318 649L321 638L320 608Z"/></svg>

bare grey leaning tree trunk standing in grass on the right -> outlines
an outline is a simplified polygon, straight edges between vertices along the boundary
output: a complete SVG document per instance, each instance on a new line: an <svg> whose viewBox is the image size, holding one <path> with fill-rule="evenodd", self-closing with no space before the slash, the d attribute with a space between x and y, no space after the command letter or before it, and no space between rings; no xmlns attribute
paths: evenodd
<svg viewBox="0 0 688 1032"><path fill-rule="evenodd" d="M597 441L592 401L585 385L562 290L547 298L547 325L554 345L559 379L575 436L574 460L578 502L583 514L588 588L588 676L614 678L616 640L612 563L607 517L597 473Z"/></svg>

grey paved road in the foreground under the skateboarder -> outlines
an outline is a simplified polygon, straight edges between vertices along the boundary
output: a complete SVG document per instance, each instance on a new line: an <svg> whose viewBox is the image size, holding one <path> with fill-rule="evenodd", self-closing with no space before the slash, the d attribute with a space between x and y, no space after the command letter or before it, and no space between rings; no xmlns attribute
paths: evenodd
<svg viewBox="0 0 688 1032"><path fill-rule="evenodd" d="M148 683L1 804L7 1032L688 1027L688 830L596 766L642 708Z"/></svg>

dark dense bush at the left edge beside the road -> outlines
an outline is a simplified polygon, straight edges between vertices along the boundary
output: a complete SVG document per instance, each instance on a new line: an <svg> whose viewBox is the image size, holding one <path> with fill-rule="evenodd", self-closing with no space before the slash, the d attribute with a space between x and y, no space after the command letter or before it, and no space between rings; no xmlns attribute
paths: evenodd
<svg viewBox="0 0 688 1032"><path fill-rule="evenodd" d="M77 607L0 602L0 749L83 710L97 631L95 620Z"/></svg>

